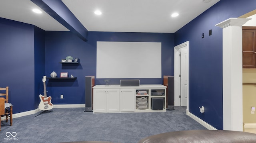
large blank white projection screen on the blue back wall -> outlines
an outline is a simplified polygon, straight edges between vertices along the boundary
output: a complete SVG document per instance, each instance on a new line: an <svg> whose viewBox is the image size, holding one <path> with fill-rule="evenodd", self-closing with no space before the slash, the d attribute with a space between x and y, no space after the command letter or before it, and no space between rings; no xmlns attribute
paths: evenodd
<svg viewBox="0 0 256 143"><path fill-rule="evenodd" d="M160 42L97 41L96 78L161 78Z"/></svg>

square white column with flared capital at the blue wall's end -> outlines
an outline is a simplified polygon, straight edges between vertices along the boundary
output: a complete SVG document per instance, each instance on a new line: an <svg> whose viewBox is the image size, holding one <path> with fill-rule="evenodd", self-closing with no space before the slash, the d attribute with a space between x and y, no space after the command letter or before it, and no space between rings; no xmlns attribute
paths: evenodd
<svg viewBox="0 0 256 143"><path fill-rule="evenodd" d="M216 24L223 29L223 130L243 131L242 25L247 18Z"/></svg>

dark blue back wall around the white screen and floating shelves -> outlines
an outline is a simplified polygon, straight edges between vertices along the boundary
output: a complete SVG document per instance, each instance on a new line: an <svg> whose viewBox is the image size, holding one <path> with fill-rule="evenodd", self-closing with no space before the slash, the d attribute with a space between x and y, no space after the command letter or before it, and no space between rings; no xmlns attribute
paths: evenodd
<svg viewBox="0 0 256 143"><path fill-rule="evenodd" d="M76 80L47 80L48 94L54 104L84 104L85 76L96 76L97 41L136 41L162 42L162 75L173 75L174 33L126 33L126 32L89 32L88 41L84 42L69 31L46 31L46 75L55 71L68 72ZM116 53L118 54L118 53ZM78 57L80 64L60 64L68 55ZM154 57L152 57L154 58ZM150 72L150 68L145 72ZM162 78L141 78L141 84L162 84ZM109 84L119 84L120 79L111 79ZM95 84L105 84L97 79ZM60 99L64 94L64 99Z"/></svg>

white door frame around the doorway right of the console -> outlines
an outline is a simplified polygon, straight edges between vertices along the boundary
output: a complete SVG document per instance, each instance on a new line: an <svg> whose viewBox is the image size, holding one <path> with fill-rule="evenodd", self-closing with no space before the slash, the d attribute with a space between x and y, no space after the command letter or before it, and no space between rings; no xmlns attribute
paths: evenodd
<svg viewBox="0 0 256 143"><path fill-rule="evenodd" d="M174 106L180 106L180 98L179 98L179 88L180 88L180 77L179 77L179 65L178 65L178 58L179 58L179 49L186 47L187 48L187 111L189 111L189 41L186 41L180 45L174 47Z"/></svg>

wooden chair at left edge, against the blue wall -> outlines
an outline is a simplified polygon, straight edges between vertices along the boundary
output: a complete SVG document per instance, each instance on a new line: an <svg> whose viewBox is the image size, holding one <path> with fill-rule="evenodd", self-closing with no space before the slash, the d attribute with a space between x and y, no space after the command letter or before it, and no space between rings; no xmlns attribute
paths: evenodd
<svg viewBox="0 0 256 143"><path fill-rule="evenodd" d="M6 86L6 88L0 87L0 116L4 118L4 119L1 118L1 121L5 120L6 122L8 122L8 119L10 118L10 125L12 125L12 104L8 103L8 92L9 92L8 86ZM4 102L4 106L1 104L2 103L1 101ZM1 123L0 123L0 131L1 131Z"/></svg>

